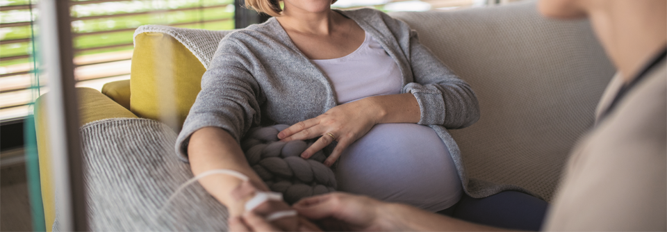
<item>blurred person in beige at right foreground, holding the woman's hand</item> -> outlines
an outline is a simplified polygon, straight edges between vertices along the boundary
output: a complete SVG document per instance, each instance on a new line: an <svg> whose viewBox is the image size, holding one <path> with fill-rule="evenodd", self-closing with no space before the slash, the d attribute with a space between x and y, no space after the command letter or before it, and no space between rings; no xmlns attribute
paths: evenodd
<svg viewBox="0 0 667 232"><path fill-rule="evenodd" d="M666 231L667 1L542 0L539 10L588 18L619 72L602 96L595 127L573 151L542 229ZM338 192L293 207L327 230L503 230ZM252 212L229 222L237 231L276 230Z"/></svg>

